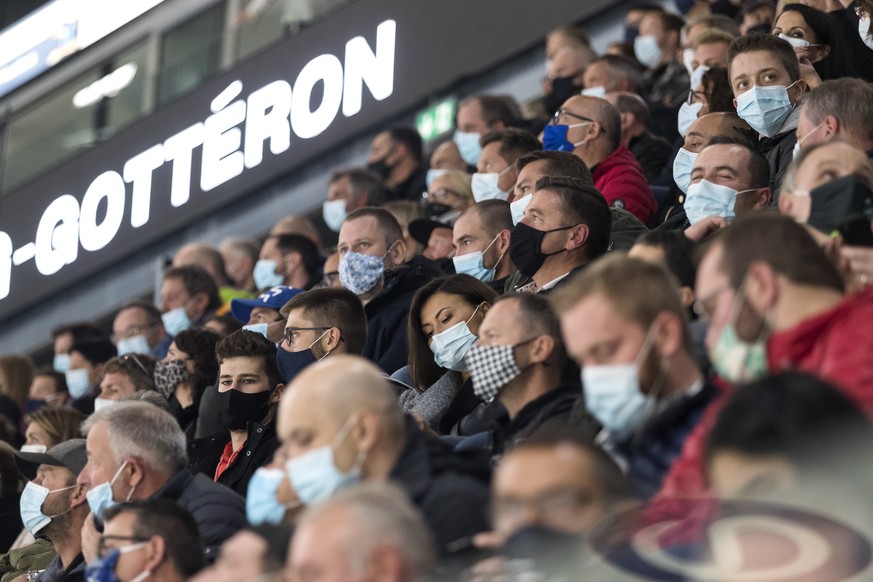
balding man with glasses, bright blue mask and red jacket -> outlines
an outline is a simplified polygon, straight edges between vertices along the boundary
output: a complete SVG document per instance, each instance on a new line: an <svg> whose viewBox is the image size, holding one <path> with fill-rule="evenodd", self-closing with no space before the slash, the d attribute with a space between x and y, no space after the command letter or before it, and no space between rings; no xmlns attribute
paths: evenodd
<svg viewBox="0 0 873 582"><path fill-rule="evenodd" d="M605 99L577 95L565 101L543 130L543 149L578 156L611 207L642 222L657 210L640 163L621 143L621 116Z"/></svg>

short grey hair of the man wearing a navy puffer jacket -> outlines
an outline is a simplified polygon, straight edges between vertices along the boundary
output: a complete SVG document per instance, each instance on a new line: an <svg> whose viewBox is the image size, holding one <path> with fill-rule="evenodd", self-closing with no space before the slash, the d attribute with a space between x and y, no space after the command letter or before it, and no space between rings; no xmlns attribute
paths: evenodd
<svg viewBox="0 0 873 582"><path fill-rule="evenodd" d="M138 457L152 471L172 475L188 465L185 433L172 414L147 402L117 402L82 424L87 435L98 423L109 429L109 448L117 464Z"/></svg>

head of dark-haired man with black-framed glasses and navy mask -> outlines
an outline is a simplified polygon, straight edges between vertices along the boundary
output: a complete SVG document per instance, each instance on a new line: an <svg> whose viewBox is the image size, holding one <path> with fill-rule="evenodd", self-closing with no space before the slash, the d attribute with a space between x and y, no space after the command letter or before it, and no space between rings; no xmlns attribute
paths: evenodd
<svg viewBox="0 0 873 582"><path fill-rule="evenodd" d="M292 298L280 313L285 329L276 362L285 384L331 355L360 355L367 343L367 315L348 289L312 289Z"/></svg>

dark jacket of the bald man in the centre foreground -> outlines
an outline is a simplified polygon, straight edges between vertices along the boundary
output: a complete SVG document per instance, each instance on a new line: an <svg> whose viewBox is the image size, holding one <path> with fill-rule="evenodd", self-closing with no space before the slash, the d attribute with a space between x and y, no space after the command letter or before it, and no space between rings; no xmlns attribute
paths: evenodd
<svg viewBox="0 0 873 582"><path fill-rule="evenodd" d="M411 418L390 479L421 510L441 555L447 554L451 542L489 529L487 485L465 471L460 457L425 435Z"/></svg>

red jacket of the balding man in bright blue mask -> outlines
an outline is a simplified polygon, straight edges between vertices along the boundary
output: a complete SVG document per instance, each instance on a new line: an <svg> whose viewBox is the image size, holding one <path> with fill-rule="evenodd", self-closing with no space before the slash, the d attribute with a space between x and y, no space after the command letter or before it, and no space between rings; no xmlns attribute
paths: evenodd
<svg viewBox="0 0 873 582"><path fill-rule="evenodd" d="M626 146L618 146L597 164L591 177L610 206L624 208L643 223L658 210L646 174Z"/></svg>

